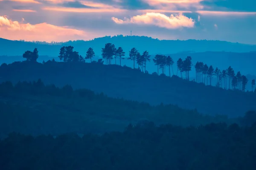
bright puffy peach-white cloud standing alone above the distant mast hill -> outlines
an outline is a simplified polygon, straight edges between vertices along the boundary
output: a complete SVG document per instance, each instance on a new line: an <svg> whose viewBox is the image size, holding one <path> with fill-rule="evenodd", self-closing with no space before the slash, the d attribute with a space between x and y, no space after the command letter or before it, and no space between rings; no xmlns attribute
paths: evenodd
<svg viewBox="0 0 256 170"><path fill-rule="evenodd" d="M140 24L140 25L154 25L167 29L177 29L182 27L192 28L195 25L195 20L188 18L182 14L168 17L164 14L149 12L143 15L137 15L130 19L120 20L112 17L112 20L117 24Z"/></svg>

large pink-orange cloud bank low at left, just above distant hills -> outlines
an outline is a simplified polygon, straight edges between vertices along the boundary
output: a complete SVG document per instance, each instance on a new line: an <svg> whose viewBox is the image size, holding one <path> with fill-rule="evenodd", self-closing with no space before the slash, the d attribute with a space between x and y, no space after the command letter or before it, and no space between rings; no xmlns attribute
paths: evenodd
<svg viewBox="0 0 256 170"><path fill-rule="evenodd" d="M22 20L24 21L24 19ZM32 25L9 20L6 16L0 16L0 37L9 40L68 41L86 37L84 31L68 27L54 26L48 23Z"/></svg>

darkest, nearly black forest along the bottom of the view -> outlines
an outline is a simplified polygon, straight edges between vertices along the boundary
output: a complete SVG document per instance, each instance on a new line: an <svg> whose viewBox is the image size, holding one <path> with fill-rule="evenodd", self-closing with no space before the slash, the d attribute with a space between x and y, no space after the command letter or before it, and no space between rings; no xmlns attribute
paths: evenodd
<svg viewBox="0 0 256 170"><path fill-rule="evenodd" d="M256 124L177 127L128 125L102 136L9 134L0 141L3 170L255 170Z"/></svg>

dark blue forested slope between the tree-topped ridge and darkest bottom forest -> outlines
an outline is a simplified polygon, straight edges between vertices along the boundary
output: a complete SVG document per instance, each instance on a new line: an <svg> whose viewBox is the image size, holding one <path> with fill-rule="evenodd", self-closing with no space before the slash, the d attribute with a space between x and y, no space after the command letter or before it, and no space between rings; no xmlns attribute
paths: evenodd
<svg viewBox="0 0 256 170"><path fill-rule="evenodd" d="M154 121L187 127L211 122L251 125L256 121L248 113L244 118L202 115L196 110L175 105L151 106L145 102L113 99L87 89L73 90L69 85L56 88L36 82L0 84L0 139L8 133L41 135L61 133L104 133L123 130L129 123ZM247 115L247 116L246 116ZM252 121L253 120L253 121Z"/></svg>

